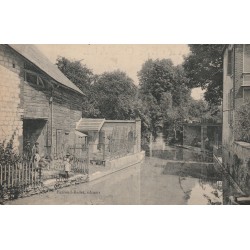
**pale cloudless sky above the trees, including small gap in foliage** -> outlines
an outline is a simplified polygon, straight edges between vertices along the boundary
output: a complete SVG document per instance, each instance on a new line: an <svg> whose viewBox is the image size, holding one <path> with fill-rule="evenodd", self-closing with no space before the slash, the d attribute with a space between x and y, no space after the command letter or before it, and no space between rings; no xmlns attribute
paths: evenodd
<svg viewBox="0 0 250 250"><path fill-rule="evenodd" d="M183 62L183 57L189 53L186 44L41 44L36 46L52 63L55 63L59 56L64 56L71 60L82 60L82 63L92 69L95 74L119 69L126 72L136 85L139 83L137 72L147 59L170 58L175 65L178 65ZM201 93L199 88L194 89L192 96L194 99L200 99Z"/></svg>

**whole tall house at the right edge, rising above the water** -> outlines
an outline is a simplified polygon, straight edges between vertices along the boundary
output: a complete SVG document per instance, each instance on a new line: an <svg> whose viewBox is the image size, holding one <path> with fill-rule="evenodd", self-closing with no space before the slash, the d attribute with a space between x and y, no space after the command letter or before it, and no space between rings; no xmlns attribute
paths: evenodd
<svg viewBox="0 0 250 250"><path fill-rule="evenodd" d="M223 165L243 191L250 194L250 141L240 122L241 107L250 100L250 45L231 44L223 50ZM247 107L246 111L250 107ZM245 112L247 115L247 112ZM249 118L246 118L246 121ZM249 120L248 120L249 122Z"/></svg>

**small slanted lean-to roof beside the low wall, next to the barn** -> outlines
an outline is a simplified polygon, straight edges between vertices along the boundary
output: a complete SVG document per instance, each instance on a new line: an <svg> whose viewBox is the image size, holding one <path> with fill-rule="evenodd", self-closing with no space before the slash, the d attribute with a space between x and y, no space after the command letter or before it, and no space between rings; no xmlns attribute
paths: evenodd
<svg viewBox="0 0 250 250"><path fill-rule="evenodd" d="M89 131L99 132L105 122L105 119L81 118L76 124L76 130L87 133Z"/></svg>

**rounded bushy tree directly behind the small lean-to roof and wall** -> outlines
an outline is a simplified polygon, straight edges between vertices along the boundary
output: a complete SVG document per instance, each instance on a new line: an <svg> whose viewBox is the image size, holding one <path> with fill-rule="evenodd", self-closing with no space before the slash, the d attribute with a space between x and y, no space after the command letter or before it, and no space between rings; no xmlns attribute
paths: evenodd
<svg viewBox="0 0 250 250"><path fill-rule="evenodd" d="M98 77L93 87L95 93L98 93L97 108L103 118L132 118L137 87L126 73L119 70L105 72Z"/></svg>

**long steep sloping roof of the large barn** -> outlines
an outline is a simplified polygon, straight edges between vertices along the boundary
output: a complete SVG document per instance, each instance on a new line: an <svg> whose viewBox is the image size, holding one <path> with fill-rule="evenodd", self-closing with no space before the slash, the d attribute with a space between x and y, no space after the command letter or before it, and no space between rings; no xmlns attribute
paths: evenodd
<svg viewBox="0 0 250 250"><path fill-rule="evenodd" d="M58 83L61 83L65 87L84 95L83 92L74 83L72 83L35 45L9 44L9 46Z"/></svg>

